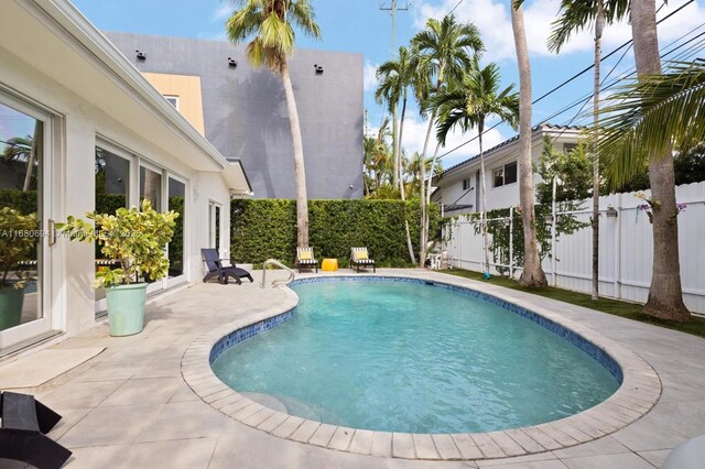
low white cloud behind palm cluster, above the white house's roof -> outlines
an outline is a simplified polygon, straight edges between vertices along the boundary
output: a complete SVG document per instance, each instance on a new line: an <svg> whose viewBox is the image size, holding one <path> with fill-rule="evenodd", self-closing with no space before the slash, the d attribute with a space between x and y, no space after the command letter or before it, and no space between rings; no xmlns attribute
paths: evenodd
<svg viewBox="0 0 705 469"><path fill-rule="evenodd" d="M429 129L429 122L422 120L419 116L410 116L406 114L404 118L404 133L402 135L402 149L405 151L406 155L411 156L414 152L421 153L423 151L423 144L426 139L426 131ZM379 127L371 128L370 133L377 135L379 132ZM436 140L435 140L435 129L432 131L431 141L429 143L427 156L432 157L435 151ZM448 150L455 149L456 146L467 142L470 139L477 137L477 131L471 130L467 133L460 132L458 129L454 129L448 133L446 138L445 148L442 148L438 152L438 155L447 152ZM482 146L485 150L492 148L501 142L507 140L499 130L492 129L486 132L482 135ZM477 139L473 140L473 142L466 144L465 146L456 150L455 152L444 156L441 160L443 167L453 166L462 161L469 159L470 156L475 156L479 153L479 142Z"/></svg>

